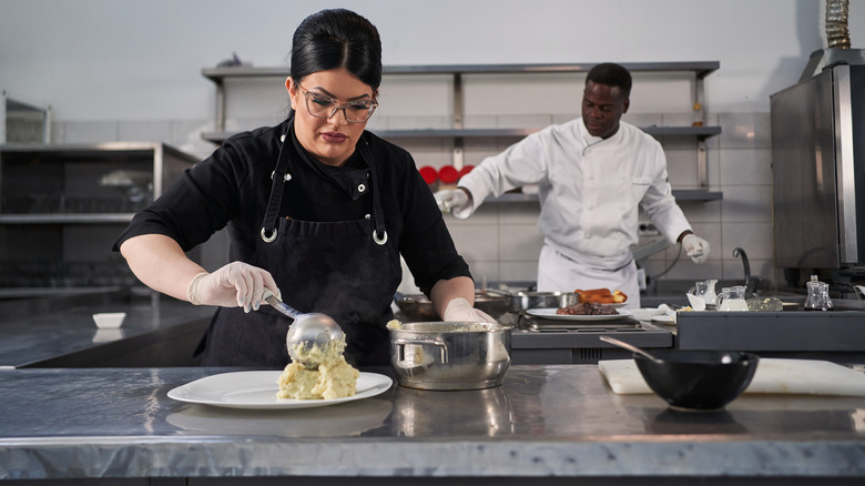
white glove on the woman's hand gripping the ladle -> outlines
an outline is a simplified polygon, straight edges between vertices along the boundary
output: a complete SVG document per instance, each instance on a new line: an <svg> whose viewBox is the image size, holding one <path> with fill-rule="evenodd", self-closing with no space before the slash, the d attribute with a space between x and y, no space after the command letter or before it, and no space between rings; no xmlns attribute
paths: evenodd
<svg viewBox="0 0 865 486"><path fill-rule="evenodd" d="M213 273L195 275L186 287L186 296L194 305L243 307L244 312L250 312L258 310L265 287L282 298L271 272L232 262Z"/></svg>

